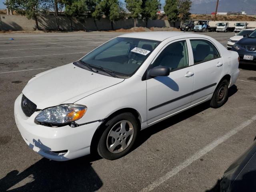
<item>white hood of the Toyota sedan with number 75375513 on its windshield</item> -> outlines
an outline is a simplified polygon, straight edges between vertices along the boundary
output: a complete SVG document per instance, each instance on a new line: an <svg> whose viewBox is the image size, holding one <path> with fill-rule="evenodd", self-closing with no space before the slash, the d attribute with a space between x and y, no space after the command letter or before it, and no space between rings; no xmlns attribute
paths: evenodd
<svg viewBox="0 0 256 192"><path fill-rule="evenodd" d="M38 109L74 103L90 94L124 81L67 64L42 72L28 81L22 93Z"/></svg>

